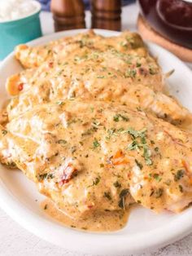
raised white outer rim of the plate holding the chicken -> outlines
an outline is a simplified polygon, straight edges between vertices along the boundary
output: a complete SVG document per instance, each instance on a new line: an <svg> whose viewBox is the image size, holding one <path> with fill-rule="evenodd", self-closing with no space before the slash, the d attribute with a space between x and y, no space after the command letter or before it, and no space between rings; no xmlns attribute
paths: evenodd
<svg viewBox="0 0 192 256"><path fill-rule="evenodd" d="M65 37L69 34L76 34L85 32L89 29L72 29L68 31L63 31L59 33L51 33L41 38L37 38L31 42L28 42L28 45L37 45L42 42L48 42L51 40L55 40L55 38ZM118 35L120 32L105 30L105 29L94 29L96 33L108 35ZM179 62L183 68L187 69L187 72L191 73L190 68L188 68L177 56L173 55L171 52L165 50L161 46L157 46L154 43L146 42L146 45L151 49L159 48L161 51L164 51L166 55L168 55L173 60ZM0 65L0 73L3 67L7 66L7 62L11 61L14 53L12 52L10 55L4 59ZM58 223L52 223L53 227L57 227L59 232L64 232L66 234L65 245L61 244L60 240L55 239L53 241L53 237L50 236L50 230L47 228L50 226L50 221L46 220L46 218L42 218L38 214L33 213L33 211L29 210L25 205L23 205L20 201L15 200L17 197L13 197L11 192L6 187L6 184L3 183L3 180L0 180L0 207L2 210L5 210L8 215L11 216L17 223L24 228L26 228L29 232L33 232L36 236L41 237L41 239L46 240L52 244L59 245L68 250L78 250L78 252L89 253L89 254L110 254L116 255L120 253L139 253L143 250L157 249L164 245L168 245L174 241L181 239L182 237L188 235L191 232L192 227L192 208L190 210L185 211L185 214L181 215L179 218L179 225L177 227L178 219L172 220L172 223L168 225L168 227L158 227L153 231L148 232L148 237L146 239L146 232L142 234L134 234L133 237L124 237L118 236L118 232L112 233L94 233L94 232L81 232L73 229L65 228ZM27 216L27 218L23 218L23 214ZM189 225L191 223L191 225ZM177 227L177 234L176 234ZM63 229L64 228L64 229ZM46 230L46 232L45 232ZM46 234L45 234L46 233ZM111 236L112 234L112 236ZM115 236L114 234L117 234ZM165 235L166 234L166 235ZM135 239L137 236L137 239ZM152 239L150 239L151 237ZM73 241L77 241L76 245ZM95 243L97 241L97 243ZM82 244L85 245L82 248ZM99 246L101 245L102 246ZM98 245L98 246L95 246ZM112 246L115 245L115 246ZM123 248L122 248L122 245ZM131 248L130 248L131 245ZM116 248L114 248L116 247Z"/></svg>

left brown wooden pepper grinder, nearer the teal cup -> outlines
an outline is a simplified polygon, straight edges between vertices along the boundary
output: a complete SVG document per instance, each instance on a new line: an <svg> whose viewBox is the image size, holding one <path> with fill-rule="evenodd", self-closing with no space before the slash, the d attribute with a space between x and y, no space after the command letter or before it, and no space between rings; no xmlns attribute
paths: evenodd
<svg viewBox="0 0 192 256"><path fill-rule="evenodd" d="M51 0L50 10L55 31L85 29L85 6L82 0Z"/></svg>

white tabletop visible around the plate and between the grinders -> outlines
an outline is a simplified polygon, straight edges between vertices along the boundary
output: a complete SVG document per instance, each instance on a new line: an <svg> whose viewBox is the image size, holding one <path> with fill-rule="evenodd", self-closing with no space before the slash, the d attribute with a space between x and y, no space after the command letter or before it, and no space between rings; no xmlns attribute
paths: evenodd
<svg viewBox="0 0 192 256"><path fill-rule="evenodd" d="M123 29L136 29L138 8L136 4L124 7L122 13ZM90 14L86 13L86 24L89 28ZM51 14L41 13L42 31L53 33ZM41 240L15 223L7 214L0 210L0 256L83 256L88 254L66 251L58 246ZM138 254L137 254L138 255ZM192 255L192 234L181 241L168 245L155 252L139 254L139 256L190 256ZM89 256L91 256L89 254ZM123 256L123 255L120 255ZM128 256L128 255L126 255ZM135 256L135 255L134 255Z"/></svg>

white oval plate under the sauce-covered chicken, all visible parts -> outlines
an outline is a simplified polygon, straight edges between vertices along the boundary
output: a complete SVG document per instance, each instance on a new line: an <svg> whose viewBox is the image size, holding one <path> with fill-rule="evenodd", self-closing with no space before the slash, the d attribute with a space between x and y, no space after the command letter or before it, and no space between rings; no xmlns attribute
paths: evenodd
<svg viewBox="0 0 192 256"><path fill-rule="evenodd" d="M30 42L29 45L39 45L82 31L84 30L54 33ZM118 34L100 29L96 32L105 36ZM175 73L168 79L170 91L192 111L192 72L190 69L163 48L151 43L147 43L147 45L151 53L158 57L164 73L172 68L175 69ZM0 68L1 101L7 98L6 78L20 69L20 64L14 59L13 53L3 61ZM168 245L191 232L192 208L181 214L154 214L142 207L132 210L127 226L119 232L79 232L63 227L44 214L39 206L44 196L37 192L35 184L24 177L19 170L7 170L0 166L0 177L0 206L2 209L29 232L65 249L90 254L138 253Z"/></svg>

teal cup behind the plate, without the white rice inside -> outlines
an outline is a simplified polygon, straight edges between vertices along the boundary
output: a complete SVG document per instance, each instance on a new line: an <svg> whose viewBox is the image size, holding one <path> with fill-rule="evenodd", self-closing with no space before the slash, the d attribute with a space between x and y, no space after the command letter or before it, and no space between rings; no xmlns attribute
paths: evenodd
<svg viewBox="0 0 192 256"><path fill-rule="evenodd" d="M20 43L40 38L39 14L41 5L34 1L36 11L18 20L0 21L0 60L3 60Z"/></svg>

